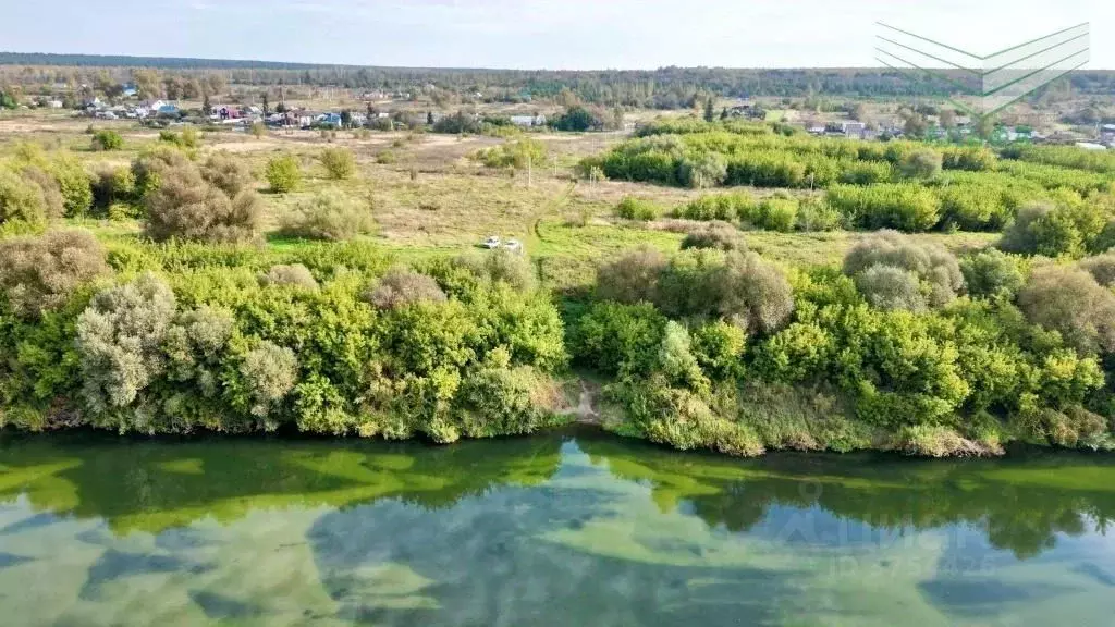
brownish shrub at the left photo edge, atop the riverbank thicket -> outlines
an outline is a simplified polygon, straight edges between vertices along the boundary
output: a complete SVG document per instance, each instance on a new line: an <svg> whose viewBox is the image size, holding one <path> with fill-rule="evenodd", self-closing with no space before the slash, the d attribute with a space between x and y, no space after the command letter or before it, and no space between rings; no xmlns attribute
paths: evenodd
<svg viewBox="0 0 1115 627"><path fill-rule="evenodd" d="M79 286L108 271L105 251L86 231L0 241L0 287L21 316L58 309Z"/></svg>

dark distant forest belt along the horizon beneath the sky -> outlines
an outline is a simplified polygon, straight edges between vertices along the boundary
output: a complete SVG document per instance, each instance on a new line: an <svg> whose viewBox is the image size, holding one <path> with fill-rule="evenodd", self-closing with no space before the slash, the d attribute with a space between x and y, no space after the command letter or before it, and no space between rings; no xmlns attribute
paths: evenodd
<svg viewBox="0 0 1115 627"><path fill-rule="evenodd" d="M274 61L47 55L0 52L0 66L35 66L21 78L71 79L81 68L157 68L183 74L220 70L234 84L339 86L351 89L415 91L436 87L458 94L481 94L485 99L550 98L570 90L581 100L602 105L657 108L690 106L696 96L805 97L816 94L845 97L943 96L951 93L942 80L911 79L908 74L880 68L728 69L677 68L656 70L511 70L456 68L386 68L327 66ZM1075 73L1069 78L1079 94L1115 93L1115 71Z"/></svg>

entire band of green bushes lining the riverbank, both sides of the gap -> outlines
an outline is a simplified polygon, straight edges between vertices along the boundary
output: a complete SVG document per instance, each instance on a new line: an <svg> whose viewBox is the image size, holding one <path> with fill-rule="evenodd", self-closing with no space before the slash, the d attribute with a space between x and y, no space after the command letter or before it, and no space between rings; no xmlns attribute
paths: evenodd
<svg viewBox="0 0 1115 627"><path fill-rule="evenodd" d="M602 266L564 321L506 253L403 267L361 243L7 238L0 423L527 433L569 356L613 378L612 428L681 448L1115 445L1115 254L958 260L884 232L841 268L786 271L708 229Z"/></svg>

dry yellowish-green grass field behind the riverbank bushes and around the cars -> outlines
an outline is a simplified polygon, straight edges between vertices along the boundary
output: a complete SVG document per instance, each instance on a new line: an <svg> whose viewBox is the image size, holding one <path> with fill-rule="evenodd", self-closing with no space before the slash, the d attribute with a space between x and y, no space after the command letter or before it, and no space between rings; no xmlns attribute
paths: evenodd
<svg viewBox="0 0 1115 627"><path fill-rule="evenodd" d="M124 148L94 152L87 118L39 114L0 120L0 155L10 154L20 143L47 149L68 149L89 168L99 164L124 166L144 151L156 146L158 133L130 122L96 120L93 126L113 128L125 141ZM650 245L677 250L685 231L696 223L661 219L630 222L614 214L624 196L655 201L672 208L695 199L696 190L643 183L603 181L578 182L573 166L588 155L599 154L624 138L622 134L531 134L545 144L547 158L525 170L488 168L469 158L477 151L505 142L486 136L435 135L424 133L322 134L317 131L271 132L253 137L244 132L220 131L201 134L194 149L198 161L224 152L246 163L258 179L256 187L265 204L266 244L274 248L300 245L297 240L274 233L281 218L294 205L330 186L367 203L375 220L372 233L363 235L392 251L400 259L456 254L476 248L496 235L518 239L536 261L544 279L558 286L581 283L591 278L593 267L626 250ZM350 148L358 173L346 181L327 177L318 155L327 146ZM388 157L384 154L389 153ZM294 192L270 193L263 182L269 158L279 154L298 157L304 179ZM762 197L777 190L748 190ZM806 195L806 191L791 191ZM138 238L136 221L71 220L104 240ZM836 263L859 235L852 232L745 233L749 249L783 264ZM933 240L953 251L985 247L988 233L932 233L915 235Z"/></svg>

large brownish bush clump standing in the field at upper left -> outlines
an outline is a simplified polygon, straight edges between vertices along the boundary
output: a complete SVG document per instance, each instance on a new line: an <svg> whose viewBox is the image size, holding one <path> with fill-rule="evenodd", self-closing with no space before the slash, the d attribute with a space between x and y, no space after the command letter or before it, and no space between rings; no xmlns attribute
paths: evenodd
<svg viewBox="0 0 1115 627"><path fill-rule="evenodd" d="M206 183L196 167L161 174L158 189L146 199L145 232L155 241L169 239L243 242L256 237L261 202L254 192L230 200Z"/></svg>

